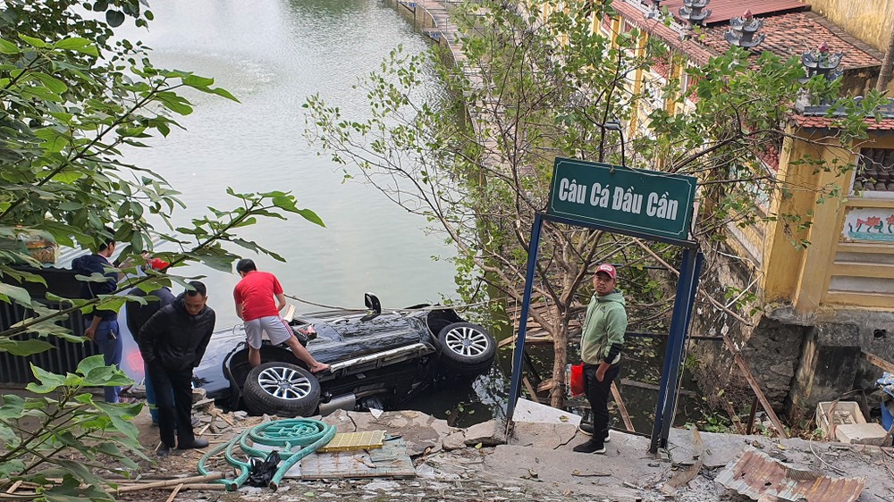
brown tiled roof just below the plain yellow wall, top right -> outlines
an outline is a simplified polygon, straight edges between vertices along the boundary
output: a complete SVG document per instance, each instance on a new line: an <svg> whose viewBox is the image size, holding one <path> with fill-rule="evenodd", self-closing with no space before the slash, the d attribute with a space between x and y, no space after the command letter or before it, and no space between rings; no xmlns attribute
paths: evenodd
<svg viewBox="0 0 894 502"><path fill-rule="evenodd" d="M709 4L711 5L713 2ZM766 38L763 44L757 47L759 51L771 51L773 54L788 58L792 55L800 56L825 42L832 53L844 53L839 66L842 70L881 65L883 54L849 36L844 30L815 13L787 13L762 19L763 28L758 33L763 33ZM730 48L730 44L724 38L729 29L729 24L705 28L704 45L719 53L725 53Z"/></svg>

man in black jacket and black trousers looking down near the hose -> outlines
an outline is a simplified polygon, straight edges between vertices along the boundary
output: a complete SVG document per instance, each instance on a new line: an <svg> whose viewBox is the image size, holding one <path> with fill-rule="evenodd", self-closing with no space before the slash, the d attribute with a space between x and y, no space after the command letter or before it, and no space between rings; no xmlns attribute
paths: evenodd
<svg viewBox="0 0 894 502"><path fill-rule="evenodd" d="M193 280L190 287L139 330L139 351L156 388L159 456L168 455L174 447L175 427L177 448L208 446L207 440L196 439L192 432L192 370L205 356L215 329L215 311L206 305L205 284Z"/></svg>

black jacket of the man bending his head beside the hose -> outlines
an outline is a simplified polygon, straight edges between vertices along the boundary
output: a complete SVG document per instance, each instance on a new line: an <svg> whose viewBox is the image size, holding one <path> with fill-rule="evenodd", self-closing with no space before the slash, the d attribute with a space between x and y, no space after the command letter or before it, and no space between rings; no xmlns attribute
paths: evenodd
<svg viewBox="0 0 894 502"><path fill-rule="evenodd" d="M181 293L139 330L139 352L147 364L159 364L175 372L191 370L205 356L214 330L215 311L206 306L197 315L190 315Z"/></svg>

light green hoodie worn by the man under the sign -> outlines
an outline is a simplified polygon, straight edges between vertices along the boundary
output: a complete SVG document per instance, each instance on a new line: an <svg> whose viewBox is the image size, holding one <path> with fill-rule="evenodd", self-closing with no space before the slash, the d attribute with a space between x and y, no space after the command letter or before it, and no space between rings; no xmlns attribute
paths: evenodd
<svg viewBox="0 0 894 502"><path fill-rule="evenodd" d="M593 294L586 307L584 334L580 339L580 358L586 364L605 361L616 364L624 347L627 310L624 295L618 289L600 297Z"/></svg>

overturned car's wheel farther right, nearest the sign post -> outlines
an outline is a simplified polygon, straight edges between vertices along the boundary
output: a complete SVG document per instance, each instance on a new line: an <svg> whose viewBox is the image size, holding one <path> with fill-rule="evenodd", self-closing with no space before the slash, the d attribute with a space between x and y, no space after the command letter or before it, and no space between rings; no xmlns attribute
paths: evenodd
<svg viewBox="0 0 894 502"><path fill-rule="evenodd" d="M438 333L441 364L444 369L460 374L477 374L493 363L497 344L481 326L469 322L453 322Z"/></svg>

